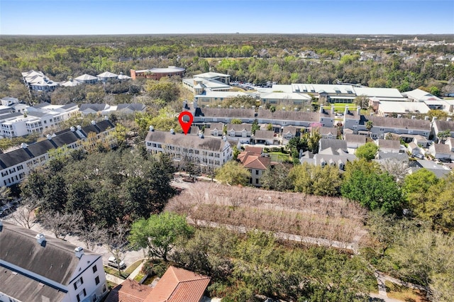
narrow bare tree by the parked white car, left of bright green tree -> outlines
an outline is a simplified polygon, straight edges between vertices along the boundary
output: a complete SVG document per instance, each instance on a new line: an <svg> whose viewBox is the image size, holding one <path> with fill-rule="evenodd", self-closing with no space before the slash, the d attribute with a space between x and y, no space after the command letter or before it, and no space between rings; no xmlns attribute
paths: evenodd
<svg viewBox="0 0 454 302"><path fill-rule="evenodd" d="M107 250L115 257L116 267L118 269L118 276L121 276L120 262L126 257L126 252L131 250L128 244L129 228L126 223L117 223L109 230L106 236Z"/></svg>

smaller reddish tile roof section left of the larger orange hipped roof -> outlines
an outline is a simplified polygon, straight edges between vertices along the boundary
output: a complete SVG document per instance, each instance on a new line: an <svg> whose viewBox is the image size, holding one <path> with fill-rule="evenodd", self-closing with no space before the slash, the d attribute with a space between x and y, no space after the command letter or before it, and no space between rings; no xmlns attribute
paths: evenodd
<svg viewBox="0 0 454 302"><path fill-rule="evenodd" d="M153 289L139 284L138 281L126 279L111 290L106 302L143 302Z"/></svg>

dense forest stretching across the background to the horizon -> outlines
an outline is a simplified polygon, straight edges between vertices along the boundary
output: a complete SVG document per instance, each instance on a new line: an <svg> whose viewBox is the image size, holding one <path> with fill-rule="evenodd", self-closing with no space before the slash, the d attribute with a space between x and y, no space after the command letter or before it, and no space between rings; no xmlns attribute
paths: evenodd
<svg viewBox="0 0 454 302"><path fill-rule="evenodd" d="M454 65L436 60L453 55L453 45L416 47L402 45L414 37L339 37L324 35L119 35L61 37L0 37L0 96L23 100L52 96L30 96L21 84L21 72L35 69L57 82L82 74L110 71L129 74L130 69L179 66L188 77L201 72L231 74L232 80L265 84L297 82L333 84L346 82L371 87L394 87L409 91L436 88L436 94L453 90ZM452 42L453 37L419 37ZM317 59L304 59L303 52ZM362 55L367 54L364 57ZM360 58L362 58L360 60ZM143 82L111 85L92 92L97 101L131 90L138 94ZM74 88L74 87L71 87ZM63 89L64 88L60 88ZM57 89L54 94L62 94ZM101 90L101 91L98 91ZM62 101L60 96L54 97ZM131 101L123 96L117 102ZM79 100L74 96L72 99ZM66 101L72 101L67 99ZM111 100L112 101L112 100Z"/></svg>

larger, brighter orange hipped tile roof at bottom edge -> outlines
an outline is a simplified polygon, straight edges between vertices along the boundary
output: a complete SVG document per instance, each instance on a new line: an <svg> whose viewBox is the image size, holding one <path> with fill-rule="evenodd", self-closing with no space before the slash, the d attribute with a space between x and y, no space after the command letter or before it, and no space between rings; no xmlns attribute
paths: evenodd
<svg viewBox="0 0 454 302"><path fill-rule="evenodd" d="M145 302L199 302L210 277L169 267Z"/></svg>

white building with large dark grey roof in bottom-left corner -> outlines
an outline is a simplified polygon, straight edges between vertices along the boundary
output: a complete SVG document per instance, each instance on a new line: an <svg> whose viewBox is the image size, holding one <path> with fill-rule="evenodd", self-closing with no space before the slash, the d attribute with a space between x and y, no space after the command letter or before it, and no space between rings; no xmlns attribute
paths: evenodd
<svg viewBox="0 0 454 302"><path fill-rule="evenodd" d="M101 301L102 257L0 220L0 301Z"/></svg>

